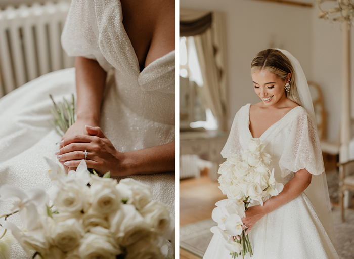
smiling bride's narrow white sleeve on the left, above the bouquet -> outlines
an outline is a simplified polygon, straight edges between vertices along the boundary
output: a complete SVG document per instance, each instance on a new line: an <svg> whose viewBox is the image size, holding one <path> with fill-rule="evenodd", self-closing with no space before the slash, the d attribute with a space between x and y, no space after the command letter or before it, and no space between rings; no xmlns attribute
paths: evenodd
<svg viewBox="0 0 354 259"><path fill-rule="evenodd" d="M232 122L230 134L226 144L221 152L224 158L228 158L233 154L240 154L241 152L241 143L239 136L239 125L240 125L240 113L242 108L236 113L234 121Z"/></svg>

